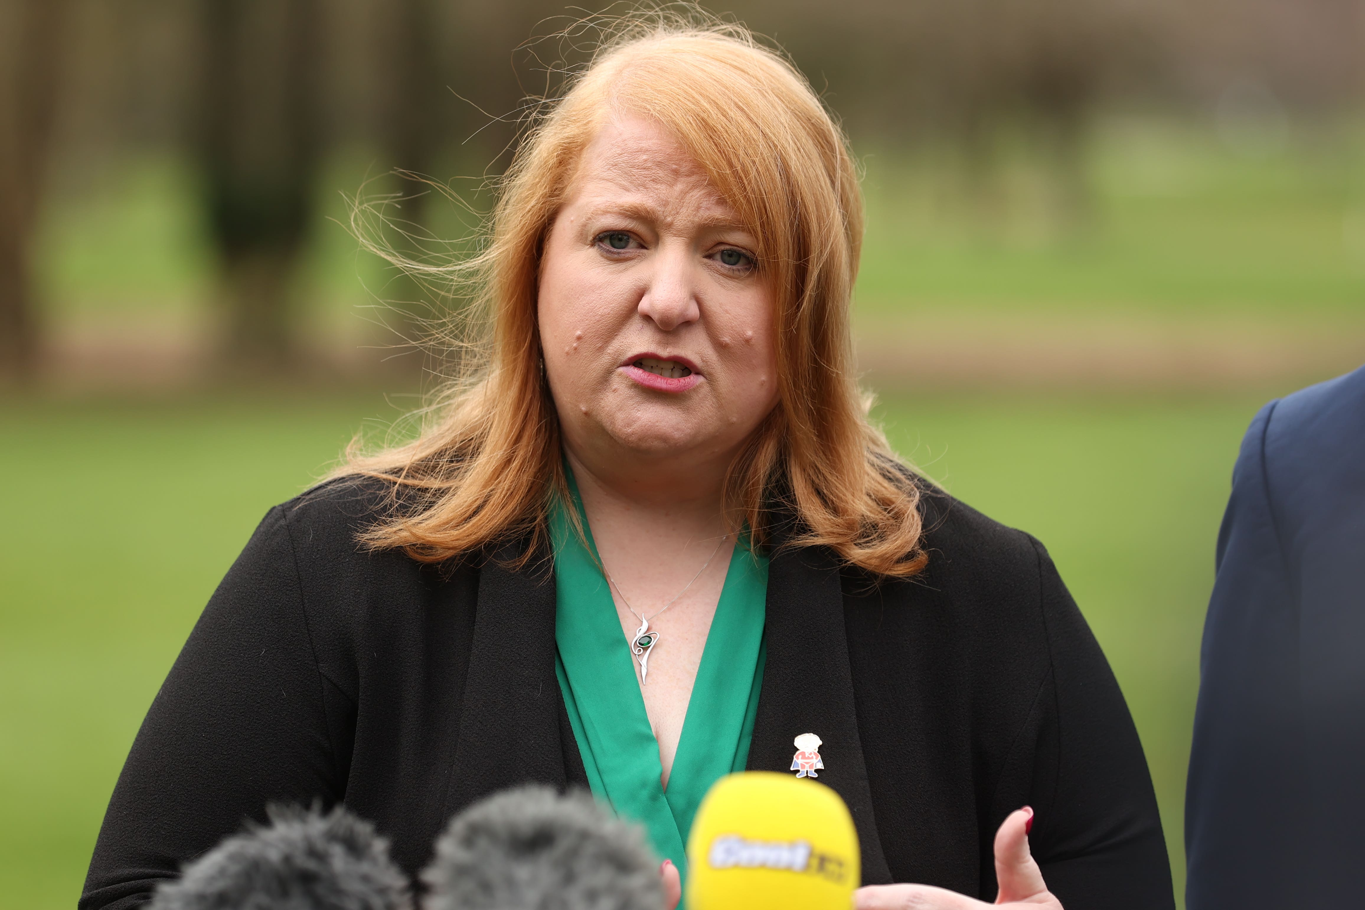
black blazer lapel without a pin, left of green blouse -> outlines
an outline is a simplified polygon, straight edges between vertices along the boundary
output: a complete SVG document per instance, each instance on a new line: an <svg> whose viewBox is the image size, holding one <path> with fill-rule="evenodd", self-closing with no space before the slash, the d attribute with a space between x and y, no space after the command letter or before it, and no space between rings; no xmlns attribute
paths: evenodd
<svg viewBox="0 0 1365 910"><path fill-rule="evenodd" d="M565 754L573 738L565 742L568 719L561 718L554 675L553 561L536 557L520 572L498 563L515 555L505 547L479 573L445 817L521 783L562 790L571 780L586 780L577 749Z"/></svg>

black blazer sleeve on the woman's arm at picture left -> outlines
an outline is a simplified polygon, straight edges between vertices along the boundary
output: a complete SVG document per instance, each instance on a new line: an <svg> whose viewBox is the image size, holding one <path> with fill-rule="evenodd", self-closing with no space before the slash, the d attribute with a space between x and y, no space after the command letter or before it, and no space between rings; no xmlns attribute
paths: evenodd
<svg viewBox="0 0 1365 910"><path fill-rule="evenodd" d="M272 509L218 585L132 744L81 910L124 910L265 804L344 793L289 528ZM332 707L336 694L332 694ZM268 799L262 798L268 794Z"/></svg>

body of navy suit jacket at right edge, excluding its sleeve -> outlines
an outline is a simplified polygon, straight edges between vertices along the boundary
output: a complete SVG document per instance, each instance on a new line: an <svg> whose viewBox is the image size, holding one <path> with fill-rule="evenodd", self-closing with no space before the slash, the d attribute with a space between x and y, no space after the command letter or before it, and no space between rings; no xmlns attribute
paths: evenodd
<svg viewBox="0 0 1365 910"><path fill-rule="evenodd" d="M1284 398L1265 475L1298 603L1298 906L1361 906L1365 857L1365 368Z"/></svg>

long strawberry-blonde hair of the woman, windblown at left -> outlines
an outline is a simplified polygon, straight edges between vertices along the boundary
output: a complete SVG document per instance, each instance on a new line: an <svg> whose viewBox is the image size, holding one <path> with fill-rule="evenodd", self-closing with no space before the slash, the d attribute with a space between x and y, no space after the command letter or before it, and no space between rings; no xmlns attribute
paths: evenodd
<svg viewBox="0 0 1365 910"><path fill-rule="evenodd" d="M403 263L478 282L490 332L407 445L348 453L337 475L382 478L390 512L362 538L440 562L531 535L566 479L541 367L536 277L577 162L613 112L673 131L758 237L775 292L779 402L729 468L725 513L758 546L824 546L848 565L910 576L925 563L919 487L868 423L853 377L849 303L863 240L857 173L811 86L740 26L654 16L622 29L521 141L483 250Z"/></svg>

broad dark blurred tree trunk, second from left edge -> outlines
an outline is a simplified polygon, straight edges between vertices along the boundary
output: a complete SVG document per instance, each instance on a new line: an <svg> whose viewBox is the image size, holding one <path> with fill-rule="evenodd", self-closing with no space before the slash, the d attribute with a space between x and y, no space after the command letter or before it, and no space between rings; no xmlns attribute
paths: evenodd
<svg viewBox="0 0 1365 910"><path fill-rule="evenodd" d="M224 355L283 370L319 160L315 0L206 0L201 136L206 206L222 270Z"/></svg>

